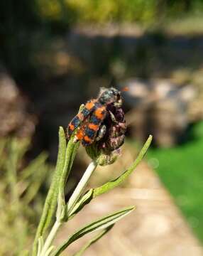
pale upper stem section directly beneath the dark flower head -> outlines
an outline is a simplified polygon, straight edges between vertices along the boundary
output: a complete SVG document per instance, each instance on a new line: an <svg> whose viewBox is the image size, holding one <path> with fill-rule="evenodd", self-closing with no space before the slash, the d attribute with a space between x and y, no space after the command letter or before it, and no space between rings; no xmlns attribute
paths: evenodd
<svg viewBox="0 0 203 256"><path fill-rule="evenodd" d="M67 203L67 213L70 213L72 208L75 206L75 203L77 203L79 197L82 195L82 192L84 191L84 188L87 186L87 182L89 181L89 178L92 176L96 168L97 168L97 163L95 161L92 161L87 167L86 171L84 171L84 174L81 180L77 184L75 191L72 193L72 196L70 197Z"/></svg>

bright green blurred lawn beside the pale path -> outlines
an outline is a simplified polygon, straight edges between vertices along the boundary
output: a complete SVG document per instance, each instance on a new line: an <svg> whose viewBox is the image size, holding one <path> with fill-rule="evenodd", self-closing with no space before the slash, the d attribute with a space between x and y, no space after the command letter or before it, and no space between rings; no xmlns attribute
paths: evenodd
<svg viewBox="0 0 203 256"><path fill-rule="evenodd" d="M192 136L171 149L151 148L148 160L158 160L155 171L203 242L203 122L193 127Z"/></svg>

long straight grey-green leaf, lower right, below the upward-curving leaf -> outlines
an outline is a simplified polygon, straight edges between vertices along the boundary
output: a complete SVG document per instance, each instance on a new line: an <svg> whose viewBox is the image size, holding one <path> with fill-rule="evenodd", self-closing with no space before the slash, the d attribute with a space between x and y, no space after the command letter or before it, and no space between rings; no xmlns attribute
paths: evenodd
<svg viewBox="0 0 203 256"><path fill-rule="evenodd" d="M120 220L121 218L124 218L124 216L128 215L128 213L131 213L131 211L134 209L134 206L130 206L128 208L124 208L122 210L119 210L115 213L111 213L110 215L106 215L103 218L100 218L99 220L96 220L92 223L89 223L84 226L84 228L80 228L77 230L73 235L70 235L70 237L62 243L55 252L53 252L53 256L60 255L62 251L64 251L72 242L75 242L75 240L82 238L84 235L88 233L92 233L93 231L101 230L108 228L109 226L116 223L116 221Z"/></svg>

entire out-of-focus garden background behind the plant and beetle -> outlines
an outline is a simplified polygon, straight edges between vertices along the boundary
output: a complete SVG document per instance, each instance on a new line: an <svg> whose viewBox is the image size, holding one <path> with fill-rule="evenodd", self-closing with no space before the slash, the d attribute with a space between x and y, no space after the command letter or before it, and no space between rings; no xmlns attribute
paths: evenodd
<svg viewBox="0 0 203 256"><path fill-rule="evenodd" d="M75 230L138 206L85 255L203 255L202 14L202 0L0 1L0 255L29 250L58 127L110 84L128 87L126 143L90 185L119 175L148 134L153 146L124 186L72 220ZM88 163L80 149L67 194Z"/></svg>

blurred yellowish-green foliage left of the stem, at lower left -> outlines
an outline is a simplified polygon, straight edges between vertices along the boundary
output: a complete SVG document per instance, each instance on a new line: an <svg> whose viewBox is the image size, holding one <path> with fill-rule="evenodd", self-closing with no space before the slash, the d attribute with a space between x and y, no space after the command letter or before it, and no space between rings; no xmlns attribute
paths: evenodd
<svg viewBox="0 0 203 256"><path fill-rule="evenodd" d="M29 144L28 139L0 140L0 255L26 254L43 207L38 191L50 166L45 153L26 164Z"/></svg>

